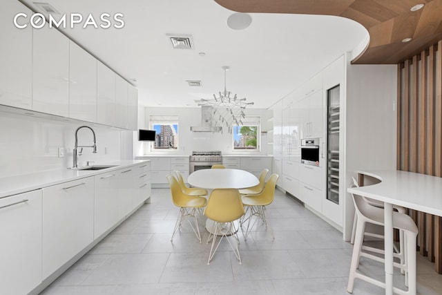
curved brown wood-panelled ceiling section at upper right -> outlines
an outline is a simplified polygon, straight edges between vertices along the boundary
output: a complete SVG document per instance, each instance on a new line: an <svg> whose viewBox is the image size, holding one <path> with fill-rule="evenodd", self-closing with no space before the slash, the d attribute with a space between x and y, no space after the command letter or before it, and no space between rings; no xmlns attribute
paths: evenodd
<svg viewBox="0 0 442 295"><path fill-rule="evenodd" d="M215 0L237 12L347 17L367 28L370 43L354 64L398 64L442 39L442 0ZM415 12L410 8L423 3ZM412 41L402 40L412 37Z"/></svg>

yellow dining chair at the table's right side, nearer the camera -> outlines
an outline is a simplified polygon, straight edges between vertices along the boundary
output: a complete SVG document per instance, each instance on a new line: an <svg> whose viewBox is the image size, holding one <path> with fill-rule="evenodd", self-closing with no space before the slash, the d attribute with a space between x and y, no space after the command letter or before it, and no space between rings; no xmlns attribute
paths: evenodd
<svg viewBox="0 0 442 295"><path fill-rule="evenodd" d="M251 227L255 225L256 219L253 221L253 224L251 225L251 220L253 219L253 216L256 216L264 222L265 227L269 228L271 230L271 234L273 236L273 239L275 239L275 234L273 233L273 229L271 226L267 223L267 218L265 216L265 207L271 204L273 202L273 198L275 196L275 187L276 182L278 181L279 175L273 173L270 175L269 180L267 180L267 184L265 185L264 190L262 190L261 193L258 195L246 195L242 196L242 204L246 206L247 211L249 212L249 216L245 218L244 220L241 220L241 227L244 224L244 222L247 221L247 229L246 233L244 234L244 240L247 240L247 236L250 233Z"/></svg>

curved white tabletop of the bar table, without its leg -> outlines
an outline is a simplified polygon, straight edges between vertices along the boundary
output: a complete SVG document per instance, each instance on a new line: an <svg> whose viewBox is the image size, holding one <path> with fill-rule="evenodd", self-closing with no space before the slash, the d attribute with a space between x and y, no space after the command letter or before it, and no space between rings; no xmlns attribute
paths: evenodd
<svg viewBox="0 0 442 295"><path fill-rule="evenodd" d="M399 170L357 172L381 182L350 188L350 193L442 216L442 178Z"/></svg>

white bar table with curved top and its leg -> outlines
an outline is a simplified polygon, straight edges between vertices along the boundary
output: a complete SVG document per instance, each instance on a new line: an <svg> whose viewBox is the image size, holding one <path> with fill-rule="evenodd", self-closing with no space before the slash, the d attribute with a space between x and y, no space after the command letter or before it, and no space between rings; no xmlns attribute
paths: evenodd
<svg viewBox="0 0 442 295"><path fill-rule="evenodd" d="M384 202L385 249L393 249L393 204L442 216L442 178L407 171L357 171L380 180L349 193ZM393 294L393 250L385 251L385 294Z"/></svg>

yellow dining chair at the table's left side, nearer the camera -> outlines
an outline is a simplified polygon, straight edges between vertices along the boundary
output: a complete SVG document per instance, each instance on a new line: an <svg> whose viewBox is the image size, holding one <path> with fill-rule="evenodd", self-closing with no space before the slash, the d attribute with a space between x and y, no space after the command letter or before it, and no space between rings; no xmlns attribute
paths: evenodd
<svg viewBox="0 0 442 295"><path fill-rule="evenodd" d="M196 237L201 242L200 229L198 228L198 220L195 213L198 212L198 209L206 206L206 198L200 196L188 196L182 192L180 184L175 177L169 174L166 176L166 178L171 187L173 204L175 204L175 206L177 207L180 207L180 214L178 215L177 221L175 222L175 227L173 228L171 242L173 242L173 237L175 236L175 234L177 234L177 232L181 229L184 219L187 219ZM191 220L189 220L189 218L193 218L195 227L193 227L192 222Z"/></svg>

